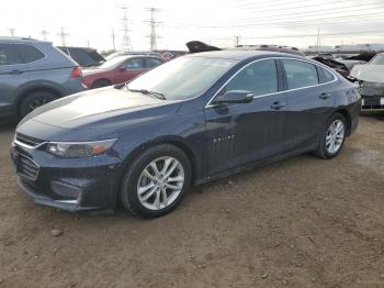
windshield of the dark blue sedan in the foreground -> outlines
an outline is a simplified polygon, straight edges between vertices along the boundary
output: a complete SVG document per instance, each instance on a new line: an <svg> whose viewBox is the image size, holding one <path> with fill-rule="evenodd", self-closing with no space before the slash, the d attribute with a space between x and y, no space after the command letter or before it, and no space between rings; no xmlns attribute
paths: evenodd
<svg viewBox="0 0 384 288"><path fill-rule="evenodd" d="M136 78L128 84L128 89L184 100L204 92L236 63L224 58L180 57Z"/></svg>

